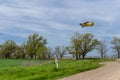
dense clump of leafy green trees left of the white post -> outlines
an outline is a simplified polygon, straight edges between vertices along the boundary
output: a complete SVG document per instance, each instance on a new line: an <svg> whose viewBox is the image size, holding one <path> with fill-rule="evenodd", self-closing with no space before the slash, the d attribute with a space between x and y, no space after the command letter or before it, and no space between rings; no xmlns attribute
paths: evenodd
<svg viewBox="0 0 120 80"><path fill-rule="evenodd" d="M46 46L47 40L38 33L28 36L26 42L17 45L13 40L7 40L0 45L1 58L47 58L50 51Z"/></svg>

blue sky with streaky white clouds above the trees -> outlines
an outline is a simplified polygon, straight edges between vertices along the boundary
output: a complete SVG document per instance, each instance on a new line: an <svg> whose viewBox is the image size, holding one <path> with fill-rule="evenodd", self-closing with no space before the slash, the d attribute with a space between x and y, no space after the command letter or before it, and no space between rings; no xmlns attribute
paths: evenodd
<svg viewBox="0 0 120 80"><path fill-rule="evenodd" d="M94 21L92 28L80 22ZM37 32L48 46L68 45L74 32L112 40L120 31L120 0L0 0L0 43L24 42Z"/></svg>

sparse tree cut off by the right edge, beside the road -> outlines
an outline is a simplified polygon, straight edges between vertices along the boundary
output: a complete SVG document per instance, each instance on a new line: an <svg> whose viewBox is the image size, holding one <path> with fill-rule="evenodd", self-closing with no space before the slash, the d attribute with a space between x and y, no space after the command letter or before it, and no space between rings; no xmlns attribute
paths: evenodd
<svg viewBox="0 0 120 80"><path fill-rule="evenodd" d="M113 37L113 40L111 41L113 45L113 49L118 55L118 58L120 58L120 37Z"/></svg>

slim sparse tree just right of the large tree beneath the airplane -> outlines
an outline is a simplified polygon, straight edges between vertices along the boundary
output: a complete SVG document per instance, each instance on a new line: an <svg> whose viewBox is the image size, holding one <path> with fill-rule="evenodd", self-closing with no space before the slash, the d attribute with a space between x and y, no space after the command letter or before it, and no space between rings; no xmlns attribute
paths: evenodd
<svg viewBox="0 0 120 80"><path fill-rule="evenodd" d="M96 50L100 53L101 58L105 58L107 52L107 46L105 41L99 41L99 45L97 45Z"/></svg>

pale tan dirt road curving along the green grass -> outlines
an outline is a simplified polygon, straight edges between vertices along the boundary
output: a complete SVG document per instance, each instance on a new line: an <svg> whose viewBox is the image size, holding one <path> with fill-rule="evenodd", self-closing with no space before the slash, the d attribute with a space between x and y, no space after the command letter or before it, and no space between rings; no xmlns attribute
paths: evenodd
<svg viewBox="0 0 120 80"><path fill-rule="evenodd" d="M59 80L120 80L120 60L106 62L105 66Z"/></svg>

